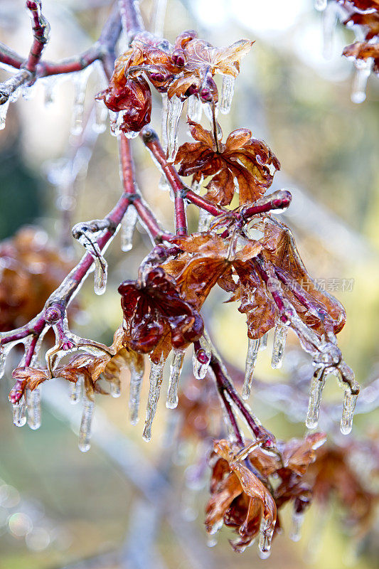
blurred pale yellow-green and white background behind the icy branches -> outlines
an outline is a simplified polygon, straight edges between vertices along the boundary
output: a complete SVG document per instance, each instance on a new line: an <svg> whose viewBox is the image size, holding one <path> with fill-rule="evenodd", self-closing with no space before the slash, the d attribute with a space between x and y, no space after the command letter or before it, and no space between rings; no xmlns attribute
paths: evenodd
<svg viewBox="0 0 379 569"><path fill-rule="evenodd" d="M43 4L51 24L46 58L53 60L87 48L97 38L109 9L108 3L100 0L46 0ZM151 2L144 0L142 9L149 15ZM321 16L311 0L169 0L166 37L173 40L186 28L197 29L199 36L215 46L242 37L255 39L252 52L242 61L232 111L221 117L221 126L225 135L237 127L248 127L277 154L282 171L272 189L287 188L293 193L292 206L283 217L294 230L311 275L340 283L353 279L351 290L343 291L339 285L333 294L348 314L340 334L341 348L364 385L378 375L378 79L370 78L363 104L351 102L353 69L340 55L343 46L353 41L351 32L336 30L333 56L325 60ZM0 2L0 34L1 41L26 53L31 34L22 1ZM1 71L3 76L8 75ZM73 156L80 142L70 135L72 79L55 83L50 105L45 105L46 85L39 82L31 100L19 100L9 108L6 129L0 132L0 237L10 237L25 224L36 224L46 230L50 243L69 243L68 257L78 259L80 248L68 240L68 227L79 220L102 218L117 200L121 186L117 144L108 133L97 141L92 137L87 145L89 154L93 146L93 154L88 169L83 160L69 204L48 182L51 172L59 174L64 166L62 157ZM87 114L100 88L96 73L92 73L86 93ZM155 97L155 104L153 123L159 130L159 97ZM184 122L180 137L183 142L188 139ZM139 186L162 223L172 228L172 203L168 193L158 189L159 173L139 139L133 147ZM73 211L65 209L68 205ZM190 206L192 230L197 216ZM95 298L89 279L80 293L82 311L72 323L73 329L92 339L111 341L121 322L119 296L114 291L121 280L134 278L148 249L149 239L142 229L127 254L119 250L119 238L114 240L107 253L111 267L107 292ZM205 304L205 320L221 353L242 369L247 346L245 318L235 304L220 304L225 299L220 289L213 292ZM297 348L297 339L291 336L280 371L270 368L269 351L261 353L257 376L266 382L278 378L291 381L294 366L301 361ZM190 376L189 360L184 381ZM304 370L308 373L309 366ZM141 437L143 421L137 427L128 424L127 375L122 380L121 398L101 398L97 408L100 418L117 429L117 441L109 435L105 444L114 446L118 463L96 444L88 454L78 452L74 434L78 415L67 405L60 410L54 406L53 385L46 386L51 395L43 407L41 430L14 427L6 401L9 384L4 381L0 403L1 569L244 569L260 563L267 569L335 569L345 563L362 569L378 566L375 536L379 523L359 545L356 557L356 543L341 522L341 511L333 507L326 516L315 507L309 511L299 543L289 541L289 519L285 519L284 535L274 540L272 556L266 561L258 558L255 548L243 555L233 553L226 531L218 546L206 548L203 508L208 472L205 469L201 489L188 488L183 482L199 449L185 442L168 444L178 412L166 410L164 397L159 402L153 440L146 445ZM341 403L341 391L333 378L327 385L326 399ZM146 381L141 416L145 401ZM279 438L304 433L303 423L291 422L254 396L252 408ZM378 417L377 411L358 416L353 433L378 436ZM125 450L124 444L132 447ZM129 465L120 464L123 452ZM136 484L134 474L144 472L143 466L146 480ZM160 482L154 479L156 472L163 477L158 477ZM157 486L156 501L146 498L144 488L151 491L154 484L164 483L171 485L169 492ZM181 519L181 523L174 523L176 528L172 512ZM121 560L114 551L124 552Z"/></svg>

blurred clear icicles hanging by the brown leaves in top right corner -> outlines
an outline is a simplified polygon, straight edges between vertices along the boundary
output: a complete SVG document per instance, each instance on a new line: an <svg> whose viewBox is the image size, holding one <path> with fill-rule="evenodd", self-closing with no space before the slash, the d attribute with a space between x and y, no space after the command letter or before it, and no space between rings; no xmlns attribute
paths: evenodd
<svg viewBox="0 0 379 569"><path fill-rule="evenodd" d="M326 59L330 59L333 55L333 37L336 25L338 21L345 21L349 13L346 11L342 4L338 4L338 2L334 0L314 0L314 7L316 10L323 12L323 52L324 57ZM363 41L363 26L353 26L352 23L348 23L348 26L351 26L351 29L356 36L355 41ZM356 68L353 77L353 85L351 87L351 101L361 103L365 100L366 97L365 92L368 78L370 77L370 73L373 68L373 58L361 60L352 57L351 59L353 60L354 66Z"/></svg>

